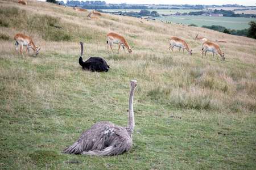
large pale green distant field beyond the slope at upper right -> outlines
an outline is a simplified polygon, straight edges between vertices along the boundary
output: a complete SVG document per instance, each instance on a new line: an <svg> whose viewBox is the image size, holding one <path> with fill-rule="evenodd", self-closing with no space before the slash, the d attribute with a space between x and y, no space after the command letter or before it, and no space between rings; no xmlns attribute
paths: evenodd
<svg viewBox="0 0 256 170"><path fill-rule="evenodd" d="M255 18L242 18L242 17L225 17L225 16L178 16L171 15L156 20L167 21L171 23L182 23L184 25L196 24L201 27L203 25L222 25L230 29L245 29L249 28L248 24L251 20L256 21Z"/></svg>

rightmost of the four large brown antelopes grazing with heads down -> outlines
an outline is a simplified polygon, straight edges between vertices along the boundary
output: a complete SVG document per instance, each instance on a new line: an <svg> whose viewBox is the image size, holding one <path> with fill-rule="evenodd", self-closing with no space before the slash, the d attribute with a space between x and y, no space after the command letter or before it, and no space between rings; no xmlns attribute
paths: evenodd
<svg viewBox="0 0 256 170"><path fill-rule="evenodd" d="M221 60L225 61L224 53L221 53L220 47L218 45L214 44L213 42L206 41L203 43L203 49L202 49L202 58L205 54L205 57L207 58L207 51L212 52L212 59L214 59L214 53L217 56L218 54L221 56Z"/></svg>

